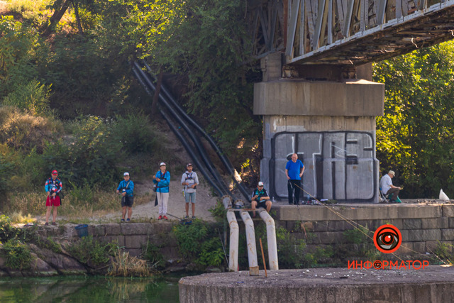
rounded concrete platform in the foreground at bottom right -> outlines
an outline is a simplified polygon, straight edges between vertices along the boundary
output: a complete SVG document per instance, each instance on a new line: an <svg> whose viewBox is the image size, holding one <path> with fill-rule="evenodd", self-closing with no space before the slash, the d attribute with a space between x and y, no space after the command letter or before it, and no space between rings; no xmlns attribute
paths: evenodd
<svg viewBox="0 0 454 303"><path fill-rule="evenodd" d="M179 302L453 302L454 268L316 268L210 273L179 280Z"/></svg>

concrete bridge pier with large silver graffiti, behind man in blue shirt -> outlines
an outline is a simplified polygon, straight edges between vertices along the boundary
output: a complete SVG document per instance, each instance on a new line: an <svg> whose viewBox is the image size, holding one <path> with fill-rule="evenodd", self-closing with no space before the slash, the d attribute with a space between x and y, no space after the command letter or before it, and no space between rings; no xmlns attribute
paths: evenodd
<svg viewBox="0 0 454 303"><path fill-rule="evenodd" d="M272 197L287 200L285 164L297 153L306 167L301 184L309 194L378 202L375 117L383 114L384 84L371 81L371 65L283 67L282 54L273 53L261 66L254 114L263 116L260 177Z"/></svg>

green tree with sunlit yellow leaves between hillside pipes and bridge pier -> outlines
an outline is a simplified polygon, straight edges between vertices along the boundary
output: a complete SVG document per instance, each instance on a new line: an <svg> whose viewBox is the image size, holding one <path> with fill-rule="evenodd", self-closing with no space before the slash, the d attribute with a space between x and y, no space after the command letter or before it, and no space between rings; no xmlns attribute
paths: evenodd
<svg viewBox="0 0 454 303"><path fill-rule="evenodd" d="M177 75L177 97L237 168L260 166L262 123L253 115L253 81L260 73L250 57L243 1L114 0L98 11L103 45L145 57L156 74Z"/></svg>

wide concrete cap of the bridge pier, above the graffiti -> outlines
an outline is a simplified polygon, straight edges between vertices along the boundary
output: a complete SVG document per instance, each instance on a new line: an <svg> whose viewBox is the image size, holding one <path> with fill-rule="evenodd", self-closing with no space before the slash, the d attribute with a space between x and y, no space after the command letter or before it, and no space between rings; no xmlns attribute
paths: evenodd
<svg viewBox="0 0 454 303"><path fill-rule="evenodd" d="M365 80L254 84L255 115L382 116L384 84Z"/></svg>

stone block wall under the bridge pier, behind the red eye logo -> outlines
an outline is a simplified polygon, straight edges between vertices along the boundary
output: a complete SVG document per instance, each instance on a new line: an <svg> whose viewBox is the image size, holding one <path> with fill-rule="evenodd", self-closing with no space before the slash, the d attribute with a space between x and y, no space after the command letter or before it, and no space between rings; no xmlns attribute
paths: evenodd
<svg viewBox="0 0 454 303"><path fill-rule="evenodd" d="M317 246L352 244L344 232L359 224L372 233L392 224L402 233L402 246L395 253L414 255L433 253L438 241L454 243L454 205L450 204L351 204L349 206L281 206L276 223L297 238L306 238L309 249ZM345 219L342 219L345 218ZM372 239L371 239L372 241ZM352 246L353 247L353 246Z"/></svg>

